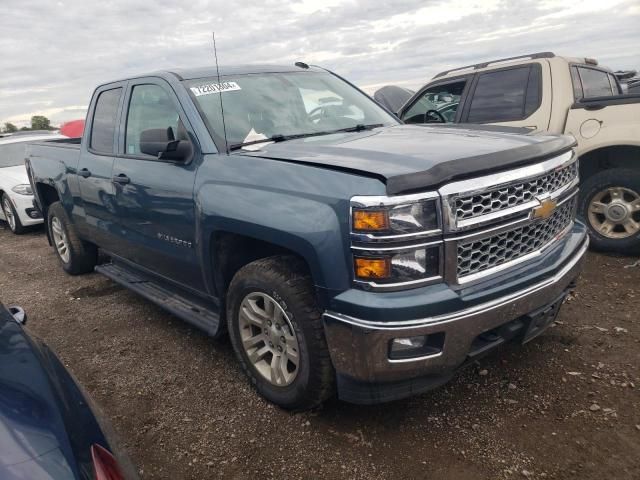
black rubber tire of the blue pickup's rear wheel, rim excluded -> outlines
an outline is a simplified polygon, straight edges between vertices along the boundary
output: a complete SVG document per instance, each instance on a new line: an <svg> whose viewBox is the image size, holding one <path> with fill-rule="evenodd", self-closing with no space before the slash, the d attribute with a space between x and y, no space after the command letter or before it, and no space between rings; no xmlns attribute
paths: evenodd
<svg viewBox="0 0 640 480"><path fill-rule="evenodd" d="M62 230L66 235L67 248L69 258L67 261L62 258L58 248L55 245L54 233L52 231L52 222L57 219L62 226ZM53 249L62 268L70 275L80 275L92 272L98 262L98 249L95 245L80 240L76 233L75 227L69 221L67 212L60 202L52 203L47 210L47 228L52 239Z"/></svg>

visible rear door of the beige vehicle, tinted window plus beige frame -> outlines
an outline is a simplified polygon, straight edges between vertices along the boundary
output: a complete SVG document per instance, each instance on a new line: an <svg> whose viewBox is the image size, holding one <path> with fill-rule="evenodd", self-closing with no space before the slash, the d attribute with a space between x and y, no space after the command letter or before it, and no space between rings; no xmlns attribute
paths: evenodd
<svg viewBox="0 0 640 480"><path fill-rule="evenodd" d="M484 71L475 75L459 120L546 131L551 100L546 61Z"/></svg>

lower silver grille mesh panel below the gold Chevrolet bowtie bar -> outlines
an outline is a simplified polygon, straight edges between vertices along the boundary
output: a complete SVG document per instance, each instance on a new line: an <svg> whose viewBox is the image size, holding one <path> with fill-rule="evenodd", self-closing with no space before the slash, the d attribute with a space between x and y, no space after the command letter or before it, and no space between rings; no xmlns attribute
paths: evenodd
<svg viewBox="0 0 640 480"><path fill-rule="evenodd" d="M458 244L458 278L482 272L539 250L573 220L576 199L547 219L481 240Z"/></svg>

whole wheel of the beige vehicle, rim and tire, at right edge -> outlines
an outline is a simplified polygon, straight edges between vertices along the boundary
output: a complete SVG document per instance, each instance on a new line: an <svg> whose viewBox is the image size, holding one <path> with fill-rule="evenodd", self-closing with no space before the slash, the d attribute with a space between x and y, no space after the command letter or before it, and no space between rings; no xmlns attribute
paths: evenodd
<svg viewBox="0 0 640 480"><path fill-rule="evenodd" d="M599 172L581 186L580 216L597 250L640 251L640 172Z"/></svg>

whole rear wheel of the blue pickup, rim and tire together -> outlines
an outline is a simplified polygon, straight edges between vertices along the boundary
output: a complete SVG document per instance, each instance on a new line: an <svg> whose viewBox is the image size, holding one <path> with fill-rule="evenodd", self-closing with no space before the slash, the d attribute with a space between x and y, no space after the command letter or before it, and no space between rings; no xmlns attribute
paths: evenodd
<svg viewBox="0 0 640 480"><path fill-rule="evenodd" d="M71 275L92 272L98 262L98 249L78 238L60 202L49 206L47 225L51 243L64 271Z"/></svg>

